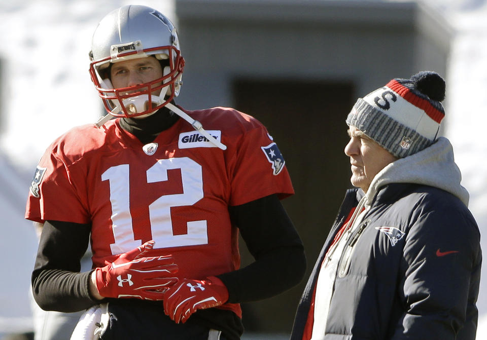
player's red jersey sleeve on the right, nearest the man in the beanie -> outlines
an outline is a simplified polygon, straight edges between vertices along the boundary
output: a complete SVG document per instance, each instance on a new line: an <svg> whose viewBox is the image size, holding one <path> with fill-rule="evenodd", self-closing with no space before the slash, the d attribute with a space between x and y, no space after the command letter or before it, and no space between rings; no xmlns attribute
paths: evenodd
<svg viewBox="0 0 487 340"><path fill-rule="evenodd" d="M231 206L272 194L277 194L280 199L294 194L284 157L260 123L239 140L233 169Z"/></svg>

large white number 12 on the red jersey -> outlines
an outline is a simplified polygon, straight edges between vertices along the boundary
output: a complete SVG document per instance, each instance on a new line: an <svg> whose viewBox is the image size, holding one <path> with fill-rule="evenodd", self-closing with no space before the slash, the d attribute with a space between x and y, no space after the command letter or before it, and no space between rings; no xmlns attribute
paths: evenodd
<svg viewBox="0 0 487 340"><path fill-rule="evenodd" d="M170 211L171 207L193 205L203 198L201 165L188 157L159 160L147 170L147 182L166 181L167 170L170 169L181 169L183 193L161 196L149 205L152 239L156 242L154 248L207 244L206 220L187 222L188 233L174 235ZM142 240L135 240L133 235L129 165L109 168L101 175L101 180L110 182L112 231L115 239L115 243L110 245L112 254L124 253L142 245Z"/></svg>

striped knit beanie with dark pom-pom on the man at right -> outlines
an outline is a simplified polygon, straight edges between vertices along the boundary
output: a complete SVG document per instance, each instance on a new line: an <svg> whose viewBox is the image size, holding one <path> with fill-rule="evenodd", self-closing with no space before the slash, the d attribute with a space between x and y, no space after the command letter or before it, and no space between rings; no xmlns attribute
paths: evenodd
<svg viewBox="0 0 487 340"><path fill-rule="evenodd" d="M422 71L411 79L393 79L359 98L346 118L352 125L398 158L433 144L445 116L441 101L445 81L438 73Z"/></svg>

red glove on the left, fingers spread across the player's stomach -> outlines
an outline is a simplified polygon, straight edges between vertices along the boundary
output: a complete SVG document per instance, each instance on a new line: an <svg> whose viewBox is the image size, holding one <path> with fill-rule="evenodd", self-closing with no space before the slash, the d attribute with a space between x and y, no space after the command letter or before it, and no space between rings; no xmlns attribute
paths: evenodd
<svg viewBox="0 0 487 340"><path fill-rule="evenodd" d="M96 288L105 297L162 300L167 287L178 282L178 266L171 255L144 257L154 241L120 255L113 263L96 268Z"/></svg>

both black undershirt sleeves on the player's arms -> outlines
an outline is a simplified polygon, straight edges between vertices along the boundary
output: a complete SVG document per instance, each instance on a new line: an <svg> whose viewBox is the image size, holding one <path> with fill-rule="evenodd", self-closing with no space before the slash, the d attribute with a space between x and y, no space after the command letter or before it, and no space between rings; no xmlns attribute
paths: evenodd
<svg viewBox="0 0 487 340"><path fill-rule="evenodd" d="M259 300L301 281L306 263L302 242L277 195L229 208L256 261L219 275L230 303ZM90 273L80 271L88 247L90 224L46 221L41 234L32 290L45 310L75 312L96 304L88 290Z"/></svg>

